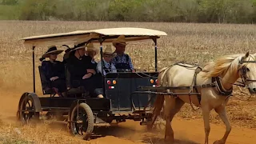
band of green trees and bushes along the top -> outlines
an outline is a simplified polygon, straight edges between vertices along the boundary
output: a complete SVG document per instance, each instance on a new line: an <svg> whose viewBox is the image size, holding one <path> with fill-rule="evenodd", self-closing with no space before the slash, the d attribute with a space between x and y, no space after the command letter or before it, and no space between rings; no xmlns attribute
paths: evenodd
<svg viewBox="0 0 256 144"><path fill-rule="evenodd" d="M256 21L256 0L0 0L1 7L1 19L219 23Z"/></svg>

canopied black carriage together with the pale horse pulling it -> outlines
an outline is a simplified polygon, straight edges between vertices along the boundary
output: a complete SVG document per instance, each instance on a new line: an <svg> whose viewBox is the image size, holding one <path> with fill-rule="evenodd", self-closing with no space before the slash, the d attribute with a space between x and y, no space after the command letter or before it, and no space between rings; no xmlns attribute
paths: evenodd
<svg viewBox="0 0 256 144"><path fill-rule="evenodd" d="M155 50L154 72L118 72L106 74L102 78L105 98L87 98L82 89L68 90L67 98L38 97L35 94L34 50L41 45L69 45L75 42L86 44L99 43L102 59L102 46L120 35L125 35L126 42L153 40ZM33 48L34 92L24 93L18 104L18 120L28 122L31 118L42 118L47 114L67 115L66 122L71 134L90 138L94 126L100 123L125 122L126 119L141 121L141 125L152 128L154 121L163 108L166 120L165 139L174 141L174 131L170 122L184 103L194 103L202 107L206 139L210 134L210 110L215 110L226 125L226 133L214 143L224 144L230 134L231 126L226 114L226 102L233 91L238 78L238 86L248 87L250 93L256 92L256 54L238 54L219 58L204 67L182 62L174 63L158 70L157 39L166 33L158 30L140 28L115 28L88 31L74 31L62 34L50 34L22 38L25 44ZM103 66L103 65L102 65ZM39 70L40 72L40 70ZM68 71L66 78L68 79ZM42 80L43 74L41 74ZM158 85L158 87L156 87ZM154 96L157 98L154 99ZM154 102L154 110L150 105ZM143 108L141 108L143 106Z"/></svg>

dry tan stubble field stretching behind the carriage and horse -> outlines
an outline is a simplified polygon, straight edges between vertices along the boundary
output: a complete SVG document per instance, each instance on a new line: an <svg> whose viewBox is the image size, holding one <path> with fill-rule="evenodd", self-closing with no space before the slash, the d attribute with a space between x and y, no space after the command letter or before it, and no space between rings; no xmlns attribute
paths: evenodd
<svg viewBox="0 0 256 144"><path fill-rule="evenodd" d="M74 30L91 30L124 26L162 30L168 34L168 36L162 37L158 41L159 69L163 66L170 66L174 62L180 61L203 66L206 62L210 62L211 60L214 60L214 58L218 58L224 54L244 54L248 50L250 53L256 53L256 26L254 25L164 22L0 21L1 108L2 106L8 106L6 110L10 110L10 112L15 115L15 110L18 105L16 103L12 104L11 102L9 104L3 104L6 94L10 96L12 95L11 93L14 93L15 97L12 96L12 98L15 98L14 102L17 102L19 96L23 92L33 90L32 50L30 47L24 47L22 41L19 41L19 38L41 34L70 32ZM60 49L64 48L60 47ZM40 65L38 59L46 50L46 47L38 47L36 49L36 67ZM126 53L130 54L135 68L154 68L153 42L130 43L127 46ZM62 56L59 56L59 60L62 60ZM42 94L38 70L36 71L36 88L36 93L38 95ZM250 129L256 128L256 106L254 106L256 98L253 96L250 98L250 101L246 102L238 100L238 98L246 99L248 97L248 94L244 94L238 89L234 91L234 98L231 98L229 106L227 106L232 126L242 126ZM8 100L10 99L11 98ZM0 119L1 116L4 117L4 115L5 114L0 111ZM182 119L202 118L200 110L194 112L191 110L190 105L184 106L180 113L178 113L178 117ZM216 114L211 115L211 122L222 124ZM3 126L2 128L0 127L0 130L7 130L6 124L2 124L2 122L0 122L0 124ZM200 129L201 128L203 129L203 127L200 127ZM30 128L28 128L28 130L30 130ZM30 135L31 133L26 131L26 134ZM54 139L54 142L58 141L58 136L54 138L56 138ZM61 139L62 138L60 137L59 140L61 141ZM36 142L38 143L39 140ZM47 142L52 141L49 140L46 141L46 143Z"/></svg>

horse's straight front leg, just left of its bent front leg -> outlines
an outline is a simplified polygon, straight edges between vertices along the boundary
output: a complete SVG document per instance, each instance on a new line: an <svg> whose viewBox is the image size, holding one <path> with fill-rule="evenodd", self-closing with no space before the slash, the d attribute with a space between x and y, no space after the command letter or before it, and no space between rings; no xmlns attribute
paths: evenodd
<svg viewBox="0 0 256 144"><path fill-rule="evenodd" d="M205 134L206 134L205 144L208 144L209 134L210 134L210 108L208 105L202 106L202 117L203 117Z"/></svg>

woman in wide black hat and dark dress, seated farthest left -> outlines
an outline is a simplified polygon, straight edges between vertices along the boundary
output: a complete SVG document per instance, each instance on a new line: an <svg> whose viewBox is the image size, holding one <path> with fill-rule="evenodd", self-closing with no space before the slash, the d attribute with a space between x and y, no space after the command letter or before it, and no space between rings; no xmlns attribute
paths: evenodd
<svg viewBox="0 0 256 144"><path fill-rule="evenodd" d="M42 72L46 80L50 81L51 88L57 88L59 93L66 91L65 67L62 62L57 61L58 54L63 50L57 50L56 46L50 46L40 61L49 58L49 61L42 61Z"/></svg>

